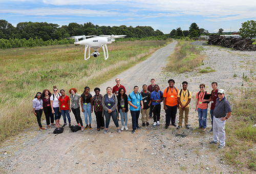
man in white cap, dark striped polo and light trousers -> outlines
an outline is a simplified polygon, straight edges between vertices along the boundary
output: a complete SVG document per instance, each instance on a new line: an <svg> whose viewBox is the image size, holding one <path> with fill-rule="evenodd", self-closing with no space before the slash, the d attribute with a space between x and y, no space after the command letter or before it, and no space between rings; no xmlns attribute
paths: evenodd
<svg viewBox="0 0 256 174"><path fill-rule="evenodd" d="M217 144L220 139L220 145L218 147L223 148L225 146L225 123L226 120L230 117L232 111L228 100L224 96L224 90L221 89L218 91L218 97L219 98L216 99L216 105L214 109L214 138L210 144ZM218 135L220 135L219 138Z"/></svg>

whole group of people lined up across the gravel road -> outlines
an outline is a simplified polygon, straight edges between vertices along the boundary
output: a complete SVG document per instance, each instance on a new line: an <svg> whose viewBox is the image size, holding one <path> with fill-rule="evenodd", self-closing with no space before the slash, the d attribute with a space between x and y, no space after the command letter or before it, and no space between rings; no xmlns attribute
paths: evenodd
<svg viewBox="0 0 256 174"><path fill-rule="evenodd" d="M191 101L191 92L187 89L188 83L182 82L182 89L178 90L175 85L175 80L169 79L169 86L162 92L156 80L151 79L151 84L142 86L142 91L139 92L139 87L134 86L133 92L126 94L126 89L120 84L120 79L117 78L116 85L106 88L106 94L101 95L100 89L95 88L95 95L90 93L89 86L84 88L81 95L77 94L75 88L69 90L70 96L65 95L65 90L60 90L56 86L53 86L53 94L49 90L44 90L42 93L37 92L35 99L33 100L33 112L37 117L39 130L44 130L46 127L41 125L42 111L46 116L47 128L51 128L50 123L56 127L66 127L67 118L69 126L71 126L70 112L72 110L76 122L81 126L81 131L84 129L92 129L92 115L95 113L97 130L104 129L103 134L109 131L110 119L114 121L117 127L117 132L121 133L121 130L128 130L127 127L127 112L130 112L132 116L132 133L135 133L136 129L141 129L138 123L138 119L141 113L142 126L150 125L149 119L153 115L154 123L153 127L160 125L160 111L161 102L163 102L163 108L165 110L165 128L167 129L170 124L176 125L176 114L179 109L179 124L177 129L182 127L183 114L185 112L185 128L189 129L188 125L188 113L189 103ZM218 90L217 82L212 82L211 94L205 91L205 84L200 84L200 91L196 95L196 108L199 117L199 129L206 130L207 121L207 109L208 103L211 102L210 116L212 128L209 133L214 133L214 139L210 144L216 144L220 140L219 147L225 146L225 121L231 115L231 107L228 100L224 96L224 90ZM210 94L209 99L204 99L206 94ZM71 100L71 102L70 102ZM84 121L86 126L83 126L80 116L80 106L84 115ZM119 113L121 116L121 128L119 127ZM60 117L63 117L64 124L60 123ZM66 118L67 117L67 118ZM105 117L105 122L104 122ZM55 120L55 124L54 124ZM220 135L220 137L218 137Z"/></svg>

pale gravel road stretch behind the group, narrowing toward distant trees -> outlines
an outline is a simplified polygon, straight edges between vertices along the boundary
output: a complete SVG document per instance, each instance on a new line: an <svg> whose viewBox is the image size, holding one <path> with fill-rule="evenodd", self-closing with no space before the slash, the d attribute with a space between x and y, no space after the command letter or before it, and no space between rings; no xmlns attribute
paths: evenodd
<svg viewBox="0 0 256 174"><path fill-rule="evenodd" d="M157 50L151 57L147 58L145 61L136 64L136 66L130 68L115 76L115 78L110 79L108 82L103 83L100 86L101 94L104 93L106 87L111 88L116 85L115 79L120 78L121 84L124 85L126 93L129 94L133 91L135 85L139 86L139 92L142 90L143 84L151 84L150 80L152 78L157 78L161 73L162 68L166 64L167 57L172 54L177 41L174 40L171 44Z"/></svg>

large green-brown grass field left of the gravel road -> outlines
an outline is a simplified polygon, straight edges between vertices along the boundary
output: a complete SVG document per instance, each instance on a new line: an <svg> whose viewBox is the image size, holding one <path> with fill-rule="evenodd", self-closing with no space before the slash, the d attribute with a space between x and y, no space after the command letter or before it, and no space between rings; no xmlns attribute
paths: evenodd
<svg viewBox="0 0 256 174"><path fill-rule="evenodd" d="M0 50L0 142L24 128L36 126L32 100L52 86L91 89L146 59L170 40L123 41L108 45L109 59L84 61L84 46L48 46ZM87 55L88 56L88 55Z"/></svg>

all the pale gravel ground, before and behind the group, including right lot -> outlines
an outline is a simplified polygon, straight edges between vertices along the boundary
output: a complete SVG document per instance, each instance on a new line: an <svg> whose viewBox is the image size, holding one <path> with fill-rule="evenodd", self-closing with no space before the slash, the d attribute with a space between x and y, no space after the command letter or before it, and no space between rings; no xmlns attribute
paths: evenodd
<svg viewBox="0 0 256 174"><path fill-rule="evenodd" d="M208 130L196 130L198 116L195 112L195 95L199 91L199 84L205 83L206 90L211 91L211 82L218 82L218 89L224 89L228 97L232 92L241 88L248 88L243 81L243 75L250 75L250 69L255 69L256 52L230 51L219 47L203 46L205 60L200 69L211 67L216 72L200 74L198 70L176 74L162 72L166 58L172 53L176 42L158 50L147 60L138 63L131 69L118 74L127 93L133 91L133 86L150 84L155 78L161 90L167 87L167 80L175 79L176 87L181 89L181 82L188 81L188 89L193 98L190 103L189 124L191 129L169 126L164 128L165 113L161 111L160 126L145 126L131 134L132 119L129 112L127 131L118 134L113 121L110 122L109 132L96 130L95 115L93 129L84 132L70 133L65 128L63 134L54 136L48 134L54 128L43 132L35 126L11 140L7 140L0 149L0 172L3 173L234 173L233 167L226 164L222 157L225 150L216 145L209 145L212 134L208 134L211 127L207 119ZM237 77L234 77L234 74ZM107 86L115 85L115 78L100 86L101 94ZM139 91L140 91L139 90ZM72 123L75 123L74 116ZM83 118L83 115L81 113ZM62 119L61 119L62 121ZM176 122L178 121L178 113ZM228 121L232 121L230 118ZM139 118L139 124L141 124ZM45 122L44 122L44 125ZM121 125L121 121L119 121ZM183 124L184 125L184 124ZM185 135L180 137L177 135ZM243 172L250 171L243 169Z"/></svg>

